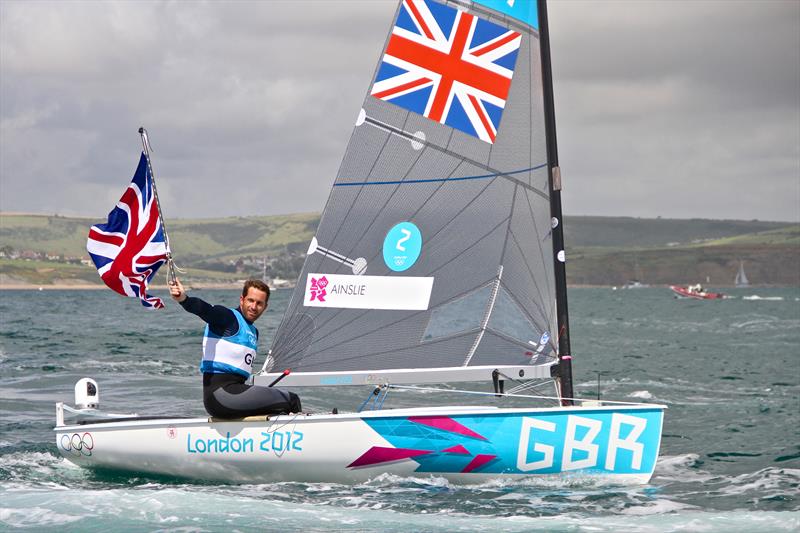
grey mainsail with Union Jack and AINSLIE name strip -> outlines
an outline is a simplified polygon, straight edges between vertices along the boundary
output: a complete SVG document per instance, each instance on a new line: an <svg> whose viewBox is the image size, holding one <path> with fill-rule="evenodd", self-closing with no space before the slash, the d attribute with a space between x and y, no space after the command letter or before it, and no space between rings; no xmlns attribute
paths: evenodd
<svg viewBox="0 0 800 533"><path fill-rule="evenodd" d="M401 2L268 369L557 361L542 86L535 1Z"/></svg>

